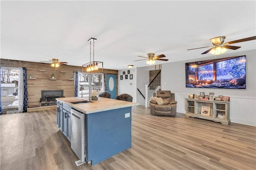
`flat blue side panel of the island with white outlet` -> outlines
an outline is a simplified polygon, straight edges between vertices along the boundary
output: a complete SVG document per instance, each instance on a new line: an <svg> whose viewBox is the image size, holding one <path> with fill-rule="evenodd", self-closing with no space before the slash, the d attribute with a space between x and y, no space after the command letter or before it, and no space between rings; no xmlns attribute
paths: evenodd
<svg viewBox="0 0 256 170"><path fill-rule="evenodd" d="M86 160L95 165L131 148L131 116L132 107L86 114Z"/></svg>

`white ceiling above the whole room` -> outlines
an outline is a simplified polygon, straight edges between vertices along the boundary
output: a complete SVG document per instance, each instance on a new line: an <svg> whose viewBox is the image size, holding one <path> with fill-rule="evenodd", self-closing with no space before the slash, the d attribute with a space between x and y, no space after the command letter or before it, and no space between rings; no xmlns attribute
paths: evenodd
<svg viewBox="0 0 256 170"><path fill-rule="evenodd" d="M167 62L208 57L210 38L225 42L256 35L256 1L2 1L1 58L68 65L95 61L104 68L148 66L140 56L164 54ZM256 41L236 43L256 49ZM234 53L228 50L227 53ZM156 61L156 64L167 63Z"/></svg>

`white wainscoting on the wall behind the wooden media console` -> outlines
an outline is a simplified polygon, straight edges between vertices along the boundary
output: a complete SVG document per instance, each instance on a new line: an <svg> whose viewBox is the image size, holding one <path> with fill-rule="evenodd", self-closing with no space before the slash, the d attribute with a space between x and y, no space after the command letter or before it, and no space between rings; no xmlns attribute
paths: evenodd
<svg viewBox="0 0 256 170"><path fill-rule="evenodd" d="M175 93L177 112L185 114L185 98L188 94ZM246 96L230 96L230 121L244 125L256 126L256 98Z"/></svg>

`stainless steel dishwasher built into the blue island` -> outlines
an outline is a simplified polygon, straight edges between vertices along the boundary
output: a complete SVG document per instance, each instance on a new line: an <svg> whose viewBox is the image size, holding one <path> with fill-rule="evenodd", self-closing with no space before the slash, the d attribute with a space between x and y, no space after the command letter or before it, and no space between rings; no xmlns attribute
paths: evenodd
<svg viewBox="0 0 256 170"><path fill-rule="evenodd" d="M85 162L84 113L71 109L71 149L81 162Z"/></svg>

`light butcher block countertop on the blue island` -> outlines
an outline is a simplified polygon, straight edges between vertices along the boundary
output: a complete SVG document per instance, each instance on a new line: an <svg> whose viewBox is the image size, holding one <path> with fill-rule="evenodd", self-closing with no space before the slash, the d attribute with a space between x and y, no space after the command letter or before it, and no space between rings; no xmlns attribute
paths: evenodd
<svg viewBox="0 0 256 170"><path fill-rule="evenodd" d="M109 99L109 98L103 98L103 97L98 97L98 100L92 100L91 103L81 103L81 104L72 104L70 102L76 102L79 100L88 100L88 97L57 98L56 100L57 101L59 100L64 104L67 104L68 106L85 114L140 105L134 102L126 102L122 100Z"/></svg>

